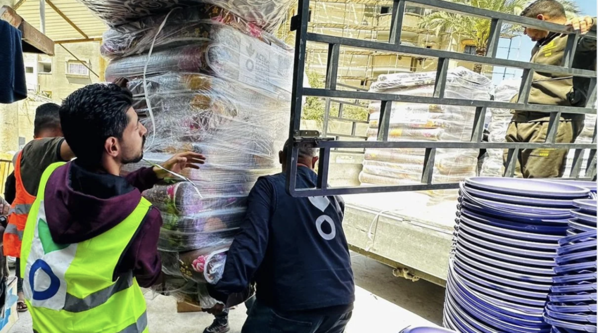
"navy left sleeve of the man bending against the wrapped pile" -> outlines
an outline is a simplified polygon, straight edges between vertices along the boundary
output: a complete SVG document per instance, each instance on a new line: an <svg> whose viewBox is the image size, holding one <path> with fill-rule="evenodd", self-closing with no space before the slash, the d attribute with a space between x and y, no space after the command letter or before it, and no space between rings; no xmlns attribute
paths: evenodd
<svg viewBox="0 0 598 333"><path fill-rule="evenodd" d="M247 213L228 250L222 279L209 285L210 296L226 303L228 295L243 292L266 255L274 188L266 178L255 183L248 197Z"/></svg>

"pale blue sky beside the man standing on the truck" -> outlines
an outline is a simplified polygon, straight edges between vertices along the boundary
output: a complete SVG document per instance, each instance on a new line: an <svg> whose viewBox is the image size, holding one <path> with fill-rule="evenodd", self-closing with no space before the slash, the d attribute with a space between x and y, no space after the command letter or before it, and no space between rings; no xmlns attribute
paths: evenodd
<svg viewBox="0 0 598 333"><path fill-rule="evenodd" d="M596 17L596 0L576 0L579 7L582 9L583 15ZM509 52L509 42L511 43L511 51ZM535 43L532 42L527 36L518 36L509 41L509 39L501 39L499 41L499 49L496 54L497 57L502 59L528 61L531 56L532 48ZM520 77L521 71L507 68L495 67L495 74L493 75L493 81L495 84L499 84L504 78L513 78L515 76Z"/></svg>

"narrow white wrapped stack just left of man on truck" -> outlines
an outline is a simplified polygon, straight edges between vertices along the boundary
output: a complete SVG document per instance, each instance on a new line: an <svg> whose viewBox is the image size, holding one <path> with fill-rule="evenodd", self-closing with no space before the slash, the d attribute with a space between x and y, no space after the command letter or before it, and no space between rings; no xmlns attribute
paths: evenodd
<svg viewBox="0 0 598 333"><path fill-rule="evenodd" d="M504 80L497 85L494 92L494 99L498 102L510 102L512 97L519 93L521 79ZM490 108L490 123L488 124L488 142L505 142L507 129L513 117L511 109ZM480 176L502 177L504 174L504 163L502 155L504 149L487 149L488 156L482 164Z"/></svg>

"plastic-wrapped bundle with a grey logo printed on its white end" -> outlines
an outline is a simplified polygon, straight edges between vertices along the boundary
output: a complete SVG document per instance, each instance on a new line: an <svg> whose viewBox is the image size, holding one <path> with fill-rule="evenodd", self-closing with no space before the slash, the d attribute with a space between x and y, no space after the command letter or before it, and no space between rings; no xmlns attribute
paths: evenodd
<svg viewBox="0 0 598 333"><path fill-rule="evenodd" d="M266 91L291 91L292 53L266 44L218 22L205 32L206 38L193 44L110 62L106 79L139 78L167 72L208 74Z"/></svg>

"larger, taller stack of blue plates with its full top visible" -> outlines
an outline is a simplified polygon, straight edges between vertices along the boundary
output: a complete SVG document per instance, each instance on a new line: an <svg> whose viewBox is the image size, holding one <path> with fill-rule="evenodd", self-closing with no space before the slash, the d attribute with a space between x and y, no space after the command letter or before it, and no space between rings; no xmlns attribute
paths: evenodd
<svg viewBox="0 0 598 333"><path fill-rule="evenodd" d="M587 188L477 177L460 187L444 324L467 333L550 333L544 305L573 200Z"/></svg>

